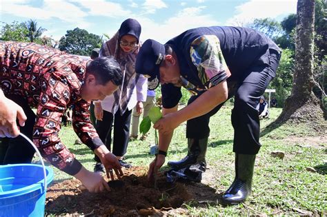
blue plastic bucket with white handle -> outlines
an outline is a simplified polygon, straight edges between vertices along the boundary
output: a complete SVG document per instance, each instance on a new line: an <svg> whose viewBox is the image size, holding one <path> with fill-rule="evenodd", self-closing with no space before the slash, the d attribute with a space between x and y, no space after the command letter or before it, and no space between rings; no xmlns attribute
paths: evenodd
<svg viewBox="0 0 327 217"><path fill-rule="evenodd" d="M42 165L0 165L0 216L44 216L46 187L53 180L53 170L43 163L37 147L34 147Z"/></svg>

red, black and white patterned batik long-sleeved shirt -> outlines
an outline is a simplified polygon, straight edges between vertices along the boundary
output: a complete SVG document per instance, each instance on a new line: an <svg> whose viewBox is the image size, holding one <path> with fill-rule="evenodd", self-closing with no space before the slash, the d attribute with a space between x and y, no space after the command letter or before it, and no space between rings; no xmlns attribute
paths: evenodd
<svg viewBox="0 0 327 217"><path fill-rule="evenodd" d="M73 127L81 141L95 149L99 136L90 123L89 103L80 89L86 62L77 56L34 43L0 43L0 82L3 92L27 99L37 108L33 142L52 165L74 175L81 169L59 138L61 116L74 105Z"/></svg>

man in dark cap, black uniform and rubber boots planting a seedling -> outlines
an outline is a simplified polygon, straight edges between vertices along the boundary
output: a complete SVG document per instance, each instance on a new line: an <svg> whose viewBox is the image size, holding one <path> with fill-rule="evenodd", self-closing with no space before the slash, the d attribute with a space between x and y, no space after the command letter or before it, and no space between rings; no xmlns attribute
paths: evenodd
<svg viewBox="0 0 327 217"><path fill-rule="evenodd" d="M143 43L136 72L148 76L149 89L161 83L164 107L164 117L154 125L159 130L159 152L150 164L148 176L164 164L173 131L184 121L187 121L188 156L168 165L205 167L210 116L235 96L232 110L235 180L224 193L223 203L244 201L251 192L255 156L261 146L256 107L275 77L280 55L273 41L249 28L195 28L165 45L152 39ZM177 111L181 86L195 95L190 97L188 106Z"/></svg>

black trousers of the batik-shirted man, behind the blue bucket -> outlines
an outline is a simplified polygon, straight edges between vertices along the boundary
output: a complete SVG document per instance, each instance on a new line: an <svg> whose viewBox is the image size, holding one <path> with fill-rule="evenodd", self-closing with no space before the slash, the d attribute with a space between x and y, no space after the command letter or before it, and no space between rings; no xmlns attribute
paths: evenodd
<svg viewBox="0 0 327 217"><path fill-rule="evenodd" d="M10 95L6 96L23 108L27 116L27 120L23 127L19 126L21 133L25 134L32 140L33 127L36 115L28 105L28 101L22 96ZM19 125L19 123L17 123ZM0 143L0 165L14 164L14 163L30 163L34 156L35 150L26 141L25 138L17 136L16 138L1 138Z"/></svg>

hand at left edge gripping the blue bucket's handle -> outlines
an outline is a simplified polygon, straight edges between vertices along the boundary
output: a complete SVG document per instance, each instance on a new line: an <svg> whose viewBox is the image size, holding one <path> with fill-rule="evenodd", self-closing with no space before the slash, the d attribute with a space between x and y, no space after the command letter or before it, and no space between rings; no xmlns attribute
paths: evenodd
<svg viewBox="0 0 327 217"><path fill-rule="evenodd" d="M19 135L19 127L16 120L18 118L19 125L25 125L27 119L23 109L4 96L0 90L0 138L16 137Z"/></svg>

